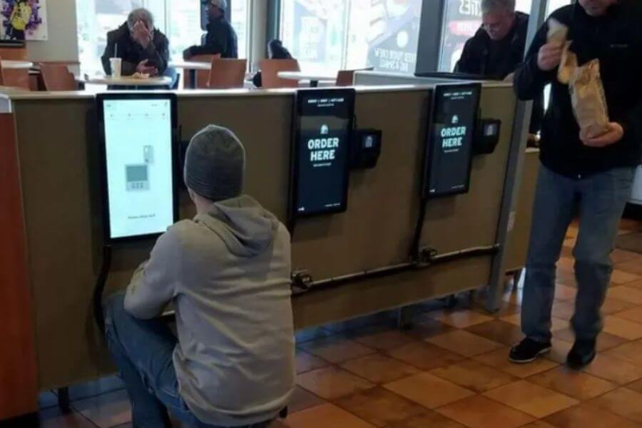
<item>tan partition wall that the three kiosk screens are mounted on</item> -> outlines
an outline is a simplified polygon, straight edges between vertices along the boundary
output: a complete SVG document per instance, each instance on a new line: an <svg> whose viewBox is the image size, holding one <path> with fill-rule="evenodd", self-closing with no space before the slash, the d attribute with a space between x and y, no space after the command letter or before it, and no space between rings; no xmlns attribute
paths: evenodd
<svg viewBox="0 0 642 428"><path fill-rule="evenodd" d="M382 129L382 156L377 168L351 174L346 213L297 224L295 268L327 280L409 260L430 93L427 87L357 91L358 125ZM209 123L238 134L248 152L246 192L284 221L293 101L289 91L254 91L180 93L178 103L184 139ZM103 245L93 102L71 95L12 99L41 389L111 370L91 307ZM440 253L494 245L515 102L508 86L484 88L482 116L501 119L501 141L494 154L474 159L469 194L429 202L423 245ZM193 209L181 196L181 217L188 218ZM152 245L114 248L108 292L127 285ZM317 325L469 290L488 282L490 265L486 255L313 291L295 297L295 321Z"/></svg>

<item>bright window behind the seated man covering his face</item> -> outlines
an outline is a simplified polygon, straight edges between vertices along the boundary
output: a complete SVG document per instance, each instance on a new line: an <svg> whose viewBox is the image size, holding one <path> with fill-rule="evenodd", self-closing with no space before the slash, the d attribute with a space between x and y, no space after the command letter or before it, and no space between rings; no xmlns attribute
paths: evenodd
<svg viewBox="0 0 642 428"><path fill-rule="evenodd" d="M248 16L250 0L233 0L231 24L238 35L239 56L249 51ZM168 36L170 58L183 58L189 46L200 44L205 33L200 28L200 0L76 0L78 53L81 72L103 73L101 56L107 32L121 26L132 9L145 7L154 15L155 26Z"/></svg>

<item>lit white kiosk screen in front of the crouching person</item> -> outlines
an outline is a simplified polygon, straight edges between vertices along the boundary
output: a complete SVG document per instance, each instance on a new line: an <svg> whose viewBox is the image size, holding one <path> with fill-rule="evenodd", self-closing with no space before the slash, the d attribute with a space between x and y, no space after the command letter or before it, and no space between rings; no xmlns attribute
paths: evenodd
<svg viewBox="0 0 642 428"><path fill-rule="evenodd" d="M178 214L171 94L101 94L103 201L109 242L165 233Z"/></svg>

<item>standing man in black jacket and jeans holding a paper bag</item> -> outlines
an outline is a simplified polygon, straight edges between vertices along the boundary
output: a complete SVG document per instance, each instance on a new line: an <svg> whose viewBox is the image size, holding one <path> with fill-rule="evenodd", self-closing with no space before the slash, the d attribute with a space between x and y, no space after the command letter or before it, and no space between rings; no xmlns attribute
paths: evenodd
<svg viewBox="0 0 642 428"><path fill-rule="evenodd" d="M576 215L576 342L567 364L580 369L596 356L610 255L642 161L641 23L642 1L578 0L551 15L516 70L520 99L533 99L550 83L551 103L526 263L526 339L511 350L513 362L551 349L555 265Z"/></svg>

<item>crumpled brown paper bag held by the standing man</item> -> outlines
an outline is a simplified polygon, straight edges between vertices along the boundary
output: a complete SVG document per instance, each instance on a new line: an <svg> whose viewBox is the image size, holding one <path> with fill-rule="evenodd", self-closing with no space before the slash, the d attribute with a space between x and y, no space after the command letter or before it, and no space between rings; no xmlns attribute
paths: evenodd
<svg viewBox="0 0 642 428"><path fill-rule="evenodd" d="M600 77L600 61L577 67L569 84L571 103L580 126L580 138L595 138L608 132L608 108Z"/></svg>

